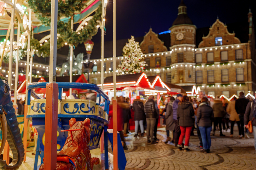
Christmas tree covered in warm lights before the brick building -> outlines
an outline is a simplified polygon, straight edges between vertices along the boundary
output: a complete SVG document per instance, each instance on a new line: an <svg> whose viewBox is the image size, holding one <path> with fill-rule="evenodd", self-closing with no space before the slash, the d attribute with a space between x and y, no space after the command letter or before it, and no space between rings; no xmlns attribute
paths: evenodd
<svg viewBox="0 0 256 170"><path fill-rule="evenodd" d="M142 73L145 69L145 61L139 42L135 42L134 37L128 39L128 43L123 47L123 56L121 64L116 70L117 75Z"/></svg>

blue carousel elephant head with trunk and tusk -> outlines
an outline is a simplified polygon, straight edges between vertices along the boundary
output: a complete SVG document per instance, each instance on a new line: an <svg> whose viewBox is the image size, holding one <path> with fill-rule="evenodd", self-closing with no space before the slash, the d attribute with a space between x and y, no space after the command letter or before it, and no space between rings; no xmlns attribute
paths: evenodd
<svg viewBox="0 0 256 170"><path fill-rule="evenodd" d="M16 170L24 159L24 146L22 143L19 123L11 100L11 90L5 77L0 73L0 121L2 141L0 153L4 150L6 140L12 150L13 159L7 165L5 160L0 160L0 169Z"/></svg>

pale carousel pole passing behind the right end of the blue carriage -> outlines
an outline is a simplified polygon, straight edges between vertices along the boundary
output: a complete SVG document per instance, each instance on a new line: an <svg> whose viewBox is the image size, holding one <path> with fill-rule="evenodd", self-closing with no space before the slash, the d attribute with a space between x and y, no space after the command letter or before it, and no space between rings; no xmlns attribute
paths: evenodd
<svg viewBox="0 0 256 170"><path fill-rule="evenodd" d="M103 84L104 84L104 0L101 0L101 89L103 90ZM103 100L101 100L103 101ZM100 152L103 153L104 150L104 133L102 133L100 138Z"/></svg>

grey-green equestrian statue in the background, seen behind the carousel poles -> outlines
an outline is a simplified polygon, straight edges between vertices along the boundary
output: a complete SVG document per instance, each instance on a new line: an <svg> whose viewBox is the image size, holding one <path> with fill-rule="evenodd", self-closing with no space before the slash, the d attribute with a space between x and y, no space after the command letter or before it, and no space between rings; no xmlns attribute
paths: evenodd
<svg viewBox="0 0 256 170"><path fill-rule="evenodd" d="M62 64L62 70L60 72L60 76L63 76L63 74L65 73L65 71L69 71L69 75L70 75L70 50L68 53L68 57L67 57L67 62ZM82 74L82 68L83 68L83 53L79 53L76 57L73 54L73 69L72 69L72 73L74 71L77 71L78 75Z"/></svg>

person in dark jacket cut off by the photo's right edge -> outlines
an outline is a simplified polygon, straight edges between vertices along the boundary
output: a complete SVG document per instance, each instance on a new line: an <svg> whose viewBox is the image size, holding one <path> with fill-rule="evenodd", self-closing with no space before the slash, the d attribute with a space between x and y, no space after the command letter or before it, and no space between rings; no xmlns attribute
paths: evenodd
<svg viewBox="0 0 256 170"><path fill-rule="evenodd" d="M256 97L256 94L255 94ZM246 128L249 128L248 124L251 123L253 129L253 136L254 136L254 148L256 151L256 99L253 101L249 101L248 105L246 106L246 110L244 113L244 124ZM250 123L249 123L250 121Z"/></svg>

